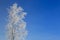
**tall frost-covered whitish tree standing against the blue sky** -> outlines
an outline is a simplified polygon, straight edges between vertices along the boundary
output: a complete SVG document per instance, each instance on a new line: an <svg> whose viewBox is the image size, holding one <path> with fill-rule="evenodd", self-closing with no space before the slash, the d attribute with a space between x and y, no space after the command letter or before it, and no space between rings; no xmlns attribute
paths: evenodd
<svg viewBox="0 0 60 40"><path fill-rule="evenodd" d="M8 13L7 40L25 40L27 35L24 21L26 12L15 3L10 6Z"/></svg>

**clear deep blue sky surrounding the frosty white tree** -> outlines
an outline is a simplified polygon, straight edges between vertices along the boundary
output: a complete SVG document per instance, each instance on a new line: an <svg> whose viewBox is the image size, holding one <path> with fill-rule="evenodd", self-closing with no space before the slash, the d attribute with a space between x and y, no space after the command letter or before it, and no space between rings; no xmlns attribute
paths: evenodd
<svg viewBox="0 0 60 40"><path fill-rule="evenodd" d="M0 0L0 40L5 40L7 8L15 2L27 12L27 40L60 40L60 0Z"/></svg>

